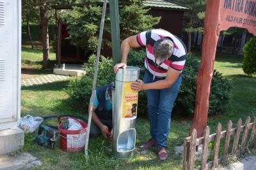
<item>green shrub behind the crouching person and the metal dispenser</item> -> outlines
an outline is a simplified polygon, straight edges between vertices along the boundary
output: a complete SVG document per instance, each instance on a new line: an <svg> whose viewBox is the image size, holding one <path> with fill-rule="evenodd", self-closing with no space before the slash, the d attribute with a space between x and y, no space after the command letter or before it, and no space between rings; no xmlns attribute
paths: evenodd
<svg viewBox="0 0 256 170"><path fill-rule="evenodd" d="M143 80L144 77L144 59L145 51L143 50L131 50L127 58L127 65L129 66L138 66L140 70L140 79ZM90 56L88 63L84 66L86 74L83 74L81 77L73 77L72 80L68 83L68 88L66 92L76 102L77 107L82 107L86 109L89 105L90 97L92 95L92 86L93 86L93 75L95 72L95 55ZM113 72L113 59L104 58L101 56L99 61L99 68L97 73L97 84L96 87L109 84L109 82L114 81L114 72ZM146 91L140 91L138 100L138 116L147 117L147 95Z"/></svg>

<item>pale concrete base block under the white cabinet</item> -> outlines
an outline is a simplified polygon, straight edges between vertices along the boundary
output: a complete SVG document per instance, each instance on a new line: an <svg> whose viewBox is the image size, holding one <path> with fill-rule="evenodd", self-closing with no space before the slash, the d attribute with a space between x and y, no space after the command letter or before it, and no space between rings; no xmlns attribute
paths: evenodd
<svg viewBox="0 0 256 170"><path fill-rule="evenodd" d="M0 155L20 150L24 146L24 131L17 129L0 130Z"/></svg>

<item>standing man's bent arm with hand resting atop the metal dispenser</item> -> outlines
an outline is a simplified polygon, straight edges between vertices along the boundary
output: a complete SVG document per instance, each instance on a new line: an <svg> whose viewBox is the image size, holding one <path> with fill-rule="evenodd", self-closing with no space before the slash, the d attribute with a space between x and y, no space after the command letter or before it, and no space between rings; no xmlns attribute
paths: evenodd
<svg viewBox="0 0 256 170"><path fill-rule="evenodd" d="M136 35L130 36L129 38L126 38L122 43L121 43L121 63L117 63L114 66L114 72L116 73L118 71L118 68L122 67L125 68L127 67L127 56L130 52L131 48L134 47L140 47L136 40Z"/></svg>

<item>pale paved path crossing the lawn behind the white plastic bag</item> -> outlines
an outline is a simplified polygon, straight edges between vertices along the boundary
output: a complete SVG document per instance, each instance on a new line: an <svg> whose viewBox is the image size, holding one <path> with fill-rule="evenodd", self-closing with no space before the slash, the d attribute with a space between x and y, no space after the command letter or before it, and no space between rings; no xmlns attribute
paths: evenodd
<svg viewBox="0 0 256 170"><path fill-rule="evenodd" d="M37 86L40 84L46 84L48 82L61 81L67 78L69 78L68 75L48 74L48 75L43 75L41 77L23 79L21 80L21 88L26 88L28 86Z"/></svg>

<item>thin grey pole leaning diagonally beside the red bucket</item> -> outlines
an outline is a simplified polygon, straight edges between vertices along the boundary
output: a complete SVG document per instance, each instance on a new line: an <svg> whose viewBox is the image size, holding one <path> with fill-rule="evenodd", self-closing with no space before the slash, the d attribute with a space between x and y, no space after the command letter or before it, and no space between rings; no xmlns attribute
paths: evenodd
<svg viewBox="0 0 256 170"><path fill-rule="evenodd" d="M92 120L92 107L93 107L95 84L97 81L97 73L98 73L99 58L100 58L100 48L101 48L102 33L103 33L105 13L106 13L106 4L107 4L107 1L104 0L101 23L100 23L100 35L99 35L99 44L98 44L98 49L97 49L97 58L96 58L95 72L94 72L94 77L93 77L92 98L91 98L91 102L90 102L90 113L89 113L89 118L88 118L88 125L87 125L88 127L87 127L86 141L85 141L85 146L84 146L86 163L88 162L88 141L89 141L91 120Z"/></svg>

